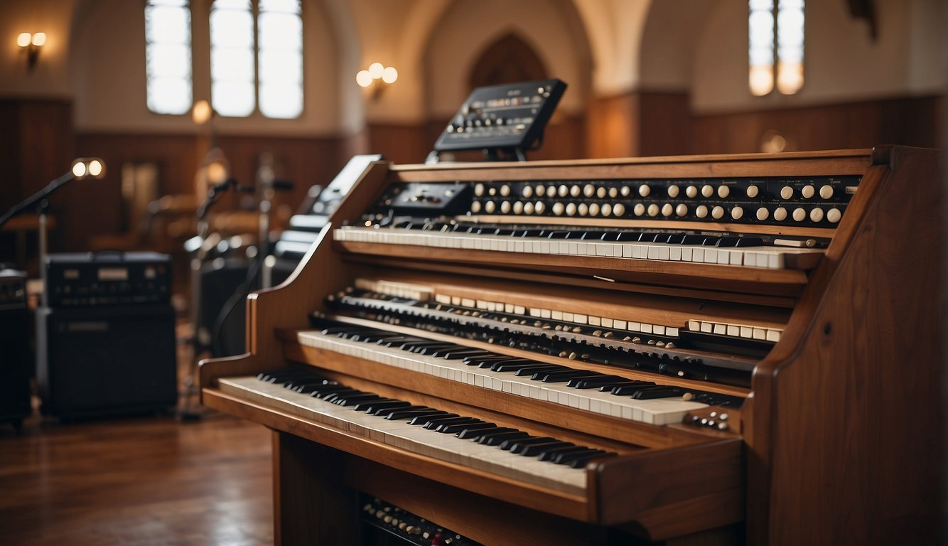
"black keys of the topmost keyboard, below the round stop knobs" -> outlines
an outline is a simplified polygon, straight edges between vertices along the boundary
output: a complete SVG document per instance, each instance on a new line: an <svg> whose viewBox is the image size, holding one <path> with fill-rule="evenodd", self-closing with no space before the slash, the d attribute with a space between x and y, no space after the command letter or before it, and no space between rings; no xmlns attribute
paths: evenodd
<svg viewBox="0 0 948 546"><path fill-rule="evenodd" d="M533 237L539 239L569 239L575 241L605 241L607 243L667 243L669 245L695 246L764 246L762 237L752 235L713 235L694 231L614 231L607 229L563 229L563 228L508 228L483 224L446 224L443 222L402 220L394 228L423 229L472 235L497 235L509 237Z"/></svg>

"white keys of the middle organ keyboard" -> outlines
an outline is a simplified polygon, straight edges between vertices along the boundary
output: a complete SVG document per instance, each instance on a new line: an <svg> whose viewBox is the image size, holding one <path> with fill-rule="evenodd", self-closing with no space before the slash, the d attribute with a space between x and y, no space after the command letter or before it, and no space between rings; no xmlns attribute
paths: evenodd
<svg viewBox="0 0 948 546"><path fill-rule="evenodd" d="M611 415L612 417L651 425L681 423L688 411L707 407L706 404L701 402L687 401L681 398L636 400L629 396L616 396L609 392L574 389L567 387L565 383L542 383L533 381L526 375L518 376L514 372L491 372L488 369L468 366L461 360L417 355L376 343L350 341L332 335L325 335L319 331L300 332L297 337L302 345L365 358L395 368L426 373L459 383L483 387L484 389L508 392L577 410L593 411L602 415Z"/></svg>

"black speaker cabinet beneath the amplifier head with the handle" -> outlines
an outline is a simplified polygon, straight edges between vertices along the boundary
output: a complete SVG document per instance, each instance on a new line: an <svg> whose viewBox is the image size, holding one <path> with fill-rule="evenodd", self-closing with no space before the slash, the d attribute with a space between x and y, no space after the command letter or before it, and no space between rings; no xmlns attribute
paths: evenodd
<svg viewBox="0 0 948 546"><path fill-rule="evenodd" d="M64 420L154 412L177 403L170 304L36 312L43 412Z"/></svg>

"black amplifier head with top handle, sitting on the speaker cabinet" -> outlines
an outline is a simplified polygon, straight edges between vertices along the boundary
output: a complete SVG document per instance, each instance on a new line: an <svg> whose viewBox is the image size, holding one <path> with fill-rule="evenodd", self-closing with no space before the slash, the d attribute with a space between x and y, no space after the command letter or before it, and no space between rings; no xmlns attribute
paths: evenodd
<svg viewBox="0 0 948 546"><path fill-rule="evenodd" d="M82 252L46 256L46 306L167 303L171 256L157 252Z"/></svg>

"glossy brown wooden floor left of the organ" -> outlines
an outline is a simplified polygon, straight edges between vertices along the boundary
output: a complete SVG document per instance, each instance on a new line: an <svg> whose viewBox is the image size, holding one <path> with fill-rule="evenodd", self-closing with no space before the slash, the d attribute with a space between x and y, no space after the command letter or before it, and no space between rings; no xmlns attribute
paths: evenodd
<svg viewBox="0 0 948 546"><path fill-rule="evenodd" d="M0 544L272 544L270 478L269 431L221 413L34 415L0 425Z"/></svg>

